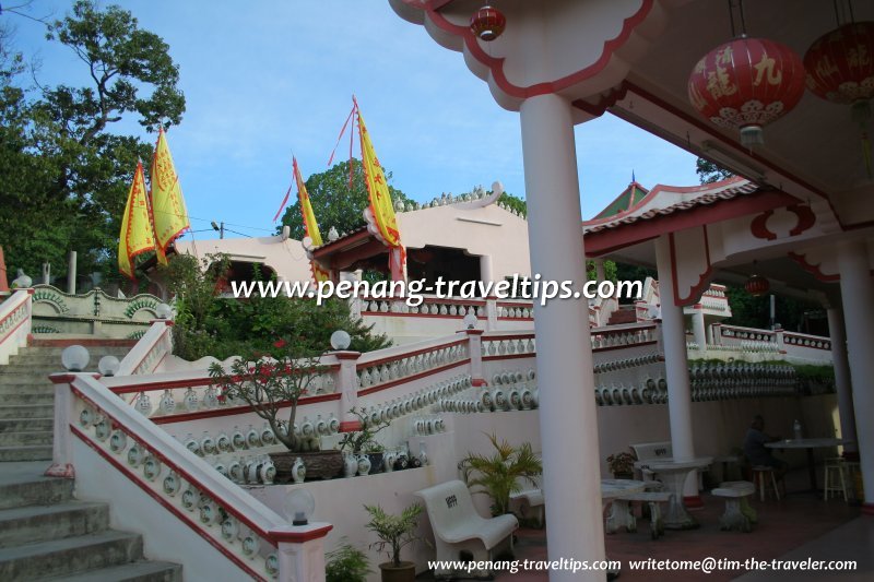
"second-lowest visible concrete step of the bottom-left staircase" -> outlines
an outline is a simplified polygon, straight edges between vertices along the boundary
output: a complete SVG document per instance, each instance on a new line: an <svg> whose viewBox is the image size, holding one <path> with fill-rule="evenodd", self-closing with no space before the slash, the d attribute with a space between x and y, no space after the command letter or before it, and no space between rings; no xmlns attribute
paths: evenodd
<svg viewBox="0 0 874 582"><path fill-rule="evenodd" d="M0 548L0 580L74 574L142 558L138 534L103 532Z"/></svg>

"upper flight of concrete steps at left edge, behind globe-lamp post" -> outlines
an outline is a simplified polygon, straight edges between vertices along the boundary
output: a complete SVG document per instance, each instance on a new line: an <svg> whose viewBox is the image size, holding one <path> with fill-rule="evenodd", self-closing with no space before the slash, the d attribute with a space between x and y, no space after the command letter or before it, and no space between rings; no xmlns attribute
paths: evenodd
<svg viewBox="0 0 874 582"><path fill-rule="evenodd" d="M71 342L74 343L74 342ZM127 346L88 345L97 369L103 356L121 359ZM0 462L51 459L55 387L48 375L63 371L61 346L25 347L0 366Z"/></svg>

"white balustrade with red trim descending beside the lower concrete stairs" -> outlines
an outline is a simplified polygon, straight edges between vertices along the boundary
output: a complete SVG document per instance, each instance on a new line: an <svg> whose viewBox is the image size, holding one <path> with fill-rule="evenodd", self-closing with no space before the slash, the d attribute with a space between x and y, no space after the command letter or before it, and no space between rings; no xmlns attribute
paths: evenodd
<svg viewBox="0 0 874 582"><path fill-rule="evenodd" d="M239 571L237 578L297 580L300 565L295 562L295 556L297 560L323 559L319 551L302 556L305 553L297 546L320 539L331 530L330 524L288 525L90 375L55 375L52 381L56 383L55 451L48 474L72 476L75 462L80 472L110 471L123 475L157 501L166 514L161 531L144 533L161 537L187 527L215 550L212 557L187 556L190 553L179 548L174 560L182 561L186 571L197 570L199 565L190 563L191 560L209 562L224 558ZM93 450L97 460L74 461L73 438ZM87 483L90 479L82 479L78 488L82 490ZM110 502L128 511L138 511L138 507L142 508L140 511L153 511L114 487L82 494L109 497Z"/></svg>

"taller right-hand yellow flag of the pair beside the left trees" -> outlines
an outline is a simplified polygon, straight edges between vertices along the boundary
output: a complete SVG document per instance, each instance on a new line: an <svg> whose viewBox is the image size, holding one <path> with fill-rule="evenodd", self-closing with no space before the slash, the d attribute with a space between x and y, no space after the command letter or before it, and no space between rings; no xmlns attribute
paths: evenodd
<svg viewBox="0 0 874 582"><path fill-rule="evenodd" d="M155 250L158 261L167 264L164 256L167 247L191 224L185 207L179 177L173 165L167 138L162 128L155 144L155 157L152 159L152 219L155 225Z"/></svg>

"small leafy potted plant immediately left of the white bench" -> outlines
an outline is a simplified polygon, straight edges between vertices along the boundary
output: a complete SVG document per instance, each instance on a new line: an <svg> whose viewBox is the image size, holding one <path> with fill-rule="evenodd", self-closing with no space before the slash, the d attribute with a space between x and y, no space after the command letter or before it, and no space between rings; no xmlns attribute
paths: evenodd
<svg viewBox="0 0 874 582"><path fill-rule="evenodd" d="M422 539L416 535L418 516L424 508L418 503L404 509L400 515L386 513L380 506L364 506L370 514L370 521L365 525L379 536L379 542L370 544L377 551L387 551L390 559L379 565L382 582L412 582L416 578L416 565L411 561L401 561L401 549L404 546Z"/></svg>

